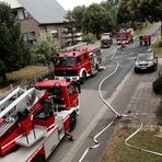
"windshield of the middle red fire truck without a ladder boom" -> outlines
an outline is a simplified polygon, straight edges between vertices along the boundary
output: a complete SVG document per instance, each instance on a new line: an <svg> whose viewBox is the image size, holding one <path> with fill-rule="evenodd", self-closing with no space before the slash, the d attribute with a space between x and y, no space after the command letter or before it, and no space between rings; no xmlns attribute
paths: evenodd
<svg viewBox="0 0 162 162"><path fill-rule="evenodd" d="M58 57L56 58L55 61L56 61L55 67L57 68L74 67L74 57Z"/></svg>

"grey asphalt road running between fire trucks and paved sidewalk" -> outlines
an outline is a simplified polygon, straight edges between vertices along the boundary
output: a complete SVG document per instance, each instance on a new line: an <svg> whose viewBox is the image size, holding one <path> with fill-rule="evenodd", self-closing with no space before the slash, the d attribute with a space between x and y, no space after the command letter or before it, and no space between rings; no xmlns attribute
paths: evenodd
<svg viewBox="0 0 162 162"><path fill-rule="evenodd" d="M153 34L154 32L157 32L157 28L159 28L159 24L148 31L148 33ZM155 35L157 34L153 34L152 37L154 37ZM79 161L84 150L90 147L91 143L93 143L91 140L93 136L114 118L114 114L109 109L107 109L106 114L103 113L103 108L105 106L99 97L97 86L101 80L115 69L115 65L109 61L109 57L112 51L114 51L116 47L116 45L113 45L108 49L103 49L103 62L106 69L100 71L95 77L89 78L86 83L82 85L82 93L80 96L80 116L78 118L77 127L72 131L72 135L76 140L71 142L67 139L63 139L62 142L60 142L60 144L50 155L48 161ZM102 93L105 99L108 100L113 92L116 91L116 88L134 67L136 54L140 50L143 50L143 48L144 47L139 48L139 43L137 39L135 39L135 43L132 45L129 45L123 50L117 50L117 54L115 55L114 59L117 60L120 66L117 72L112 78L109 78L102 86ZM123 112L124 109L119 111ZM95 129L93 129L94 127ZM113 130L113 127L111 129ZM105 138L108 140L107 137L111 137L111 134L112 131L107 130L107 132L103 136L105 136ZM106 142L103 142L100 147L100 151L93 151L88 155L88 159L85 159L84 161L99 161L100 155L96 157L96 154L102 153L102 150L104 149L105 144Z"/></svg>

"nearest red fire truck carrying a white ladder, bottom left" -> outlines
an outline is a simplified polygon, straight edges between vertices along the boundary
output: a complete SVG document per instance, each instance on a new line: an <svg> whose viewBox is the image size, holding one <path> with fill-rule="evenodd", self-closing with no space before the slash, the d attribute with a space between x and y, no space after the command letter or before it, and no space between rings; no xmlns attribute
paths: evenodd
<svg viewBox="0 0 162 162"><path fill-rule="evenodd" d="M36 89L35 89L36 88ZM0 161L45 161L79 115L79 91L72 81L47 80L15 90L0 102Z"/></svg>

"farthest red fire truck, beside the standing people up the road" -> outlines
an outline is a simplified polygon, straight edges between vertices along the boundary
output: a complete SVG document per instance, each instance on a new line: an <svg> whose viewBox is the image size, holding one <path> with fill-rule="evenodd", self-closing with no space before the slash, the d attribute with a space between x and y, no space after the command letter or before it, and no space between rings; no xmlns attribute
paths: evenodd
<svg viewBox="0 0 162 162"><path fill-rule="evenodd" d="M134 28L120 28L116 34L118 45L129 44L134 39Z"/></svg>

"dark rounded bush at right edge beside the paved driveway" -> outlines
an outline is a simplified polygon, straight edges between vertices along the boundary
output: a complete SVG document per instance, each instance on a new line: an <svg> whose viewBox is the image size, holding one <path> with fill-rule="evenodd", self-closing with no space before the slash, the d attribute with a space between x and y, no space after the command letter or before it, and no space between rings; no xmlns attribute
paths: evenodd
<svg viewBox="0 0 162 162"><path fill-rule="evenodd" d="M152 86L155 94L162 94L162 77L158 78Z"/></svg>

